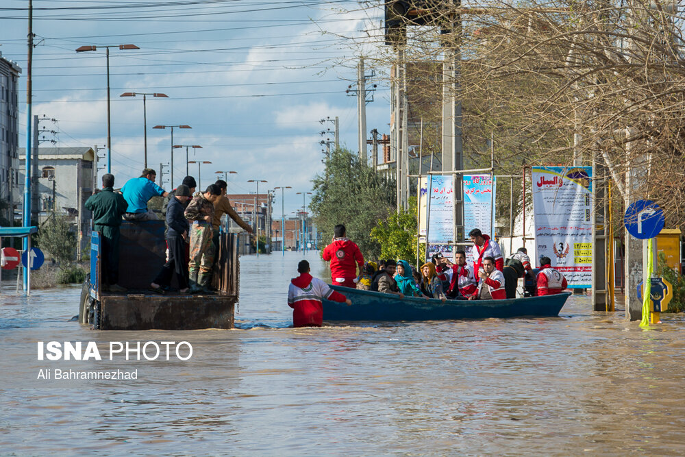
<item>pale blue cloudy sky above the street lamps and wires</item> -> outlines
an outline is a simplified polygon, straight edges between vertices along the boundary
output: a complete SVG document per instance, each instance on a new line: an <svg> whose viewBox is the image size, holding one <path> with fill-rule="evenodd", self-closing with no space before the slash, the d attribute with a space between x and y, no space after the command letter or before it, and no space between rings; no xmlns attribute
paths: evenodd
<svg viewBox="0 0 685 457"><path fill-rule="evenodd" d="M20 147L25 146L27 0L3 0L0 51L23 69L20 78ZM123 92L162 92L147 97L148 166L169 164L173 143L201 145L190 160L202 164L201 186L215 171L229 175L229 193L286 189L286 217L302 206L297 192L312 190L323 171L322 139L338 116L340 143L357 150L356 83L358 48L350 38L377 36L382 8L350 0L34 0L32 114L46 116L41 129L56 130L55 146L98 145L106 164L107 108L105 50L76 53L82 45L134 44L110 49L112 173L116 185L143 168L142 97ZM371 73L368 71L367 74ZM367 131L388 133L388 82L379 77L374 101L366 106ZM369 134L367 132L367 138ZM41 147L50 147L44 142ZM186 175L185 148L174 152L174 187ZM99 174L105 173L100 170ZM197 164L190 164L197 180ZM169 176L164 188L170 189ZM274 211L281 209L280 191Z"/></svg>

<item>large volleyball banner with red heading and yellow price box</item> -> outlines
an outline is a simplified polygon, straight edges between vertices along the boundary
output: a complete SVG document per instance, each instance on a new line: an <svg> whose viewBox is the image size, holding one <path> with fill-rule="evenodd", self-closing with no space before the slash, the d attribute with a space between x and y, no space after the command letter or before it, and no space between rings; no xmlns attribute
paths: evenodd
<svg viewBox="0 0 685 457"><path fill-rule="evenodd" d="M593 273L591 166L532 167L538 254L566 277L569 288L590 288Z"/></svg>

